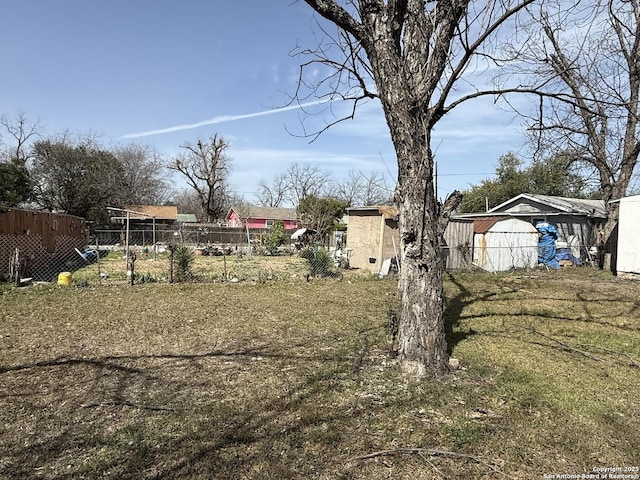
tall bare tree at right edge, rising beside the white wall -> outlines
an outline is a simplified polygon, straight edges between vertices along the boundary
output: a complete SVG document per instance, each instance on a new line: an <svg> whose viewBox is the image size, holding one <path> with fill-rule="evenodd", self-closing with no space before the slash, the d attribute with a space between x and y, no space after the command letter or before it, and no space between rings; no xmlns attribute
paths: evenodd
<svg viewBox="0 0 640 480"><path fill-rule="evenodd" d="M617 221L640 154L640 4L637 0L541 2L518 30L524 48L501 81L534 92L528 119L542 156L569 154L595 173L607 210L605 235Z"/></svg>

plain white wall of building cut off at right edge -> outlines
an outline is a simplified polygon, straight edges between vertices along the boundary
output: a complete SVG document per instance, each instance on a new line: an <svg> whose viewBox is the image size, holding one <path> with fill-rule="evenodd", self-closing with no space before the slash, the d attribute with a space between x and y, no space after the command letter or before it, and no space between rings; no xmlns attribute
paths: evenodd
<svg viewBox="0 0 640 480"><path fill-rule="evenodd" d="M620 199L618 213L618 275L640 274L640 195Z"/></svg>

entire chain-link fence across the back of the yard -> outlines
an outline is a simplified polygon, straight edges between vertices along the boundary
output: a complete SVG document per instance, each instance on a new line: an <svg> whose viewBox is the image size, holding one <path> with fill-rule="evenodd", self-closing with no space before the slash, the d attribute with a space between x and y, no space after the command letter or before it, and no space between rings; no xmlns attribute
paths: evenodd
<svg viewBox="0 0 640 480"><path fill-rule="evenodd" d="M263 243L264 230L224 231L161 228L97 230L85 235L0 235L0 280L17 285L58 282L113 285L153 282L257 282L305 281L312 277L344 275L386 276L398 272L395 256L377 258L346 245L286 243L276 250ZM127 241L128 238L128 241ZM587 246L580 246L584 251ZM458 249L460 250L460 249ZM537 245L467 245L461 255L466 268L508 271L535 268ZM574 251L576 249L574 248ZM595 265L598 253L574 257L559 249L561 264ZM445 247L442 258L452 253Z"/></svg>

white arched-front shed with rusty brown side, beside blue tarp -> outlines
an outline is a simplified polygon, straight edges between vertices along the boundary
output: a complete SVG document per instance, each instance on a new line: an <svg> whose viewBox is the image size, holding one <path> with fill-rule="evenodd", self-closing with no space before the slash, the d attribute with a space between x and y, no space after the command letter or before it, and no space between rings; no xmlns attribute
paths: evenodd
<svg viewBox="0 0 640 480"><path fill-rule="evenodd" d="M534 268L538 265L538 231L517 218L476 218L473 263L489 272Z"/></svg>

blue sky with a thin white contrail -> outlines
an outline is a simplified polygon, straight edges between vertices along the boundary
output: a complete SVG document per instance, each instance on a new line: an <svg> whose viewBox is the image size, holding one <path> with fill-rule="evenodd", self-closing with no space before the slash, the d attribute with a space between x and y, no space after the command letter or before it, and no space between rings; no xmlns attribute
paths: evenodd
<svg viewBox="0 0 640 480"><path fill-rule="evenodd" d="M261 178L293 162L395 181L376 102L311 144L288 133L302 132L301 112L280 109L301 61L290 52L315 42L304 2L7 0L1 11L0 114L21 111L47 134L93 132L105 145L141 143L167 156L217 133L231 144L231 183L249 200ZM490 100L454 111L434 137L439 196L491 177L498 157L522 143L519 122Z"/></svg>

